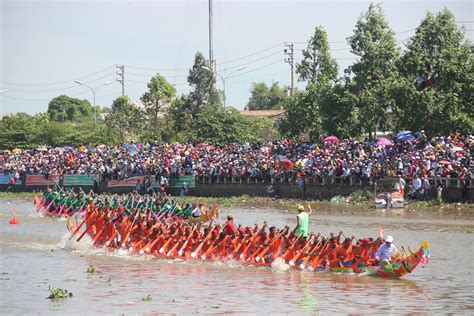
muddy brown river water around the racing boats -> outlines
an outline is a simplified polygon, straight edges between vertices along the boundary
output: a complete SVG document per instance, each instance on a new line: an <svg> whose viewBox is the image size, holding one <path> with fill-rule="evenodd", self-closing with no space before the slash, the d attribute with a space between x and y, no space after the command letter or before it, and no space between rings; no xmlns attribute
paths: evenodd
<svg viewBox="0 0 474 316"><path fill-rule="evenodd" d="M12 209L19 225L9 225ZM401 280L324 272L301 272L235 263L166 260L96 250L69 242L65 220L41 217L31 201L0 200L0 307L10 314L329 314L474 313L474 210L359 211L316 209L310 230L378 235L418 248L427 239L431 262ZM295 213L268 209L222 209L236 223L283 227ZM335 214L337 212L337 214ZM400 247L399 247L400 248ZM88 274L92 264L99 271ZM51 301L48 286L72 298ZM151 301L141 300L151 295Z"/></svg>

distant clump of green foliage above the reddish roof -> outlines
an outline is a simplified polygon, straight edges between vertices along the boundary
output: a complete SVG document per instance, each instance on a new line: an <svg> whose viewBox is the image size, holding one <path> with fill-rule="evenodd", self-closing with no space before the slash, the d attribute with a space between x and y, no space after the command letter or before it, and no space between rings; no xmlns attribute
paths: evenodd
<svg viewBox="0 0 474 316"><path fill-rule="evenodd" d="M287 99L287 86L279 86L278 82L273 82L268 87L265 82L254 82L250 89L250 99L247 103L247 110L275 110L281 109Z"/></svg>

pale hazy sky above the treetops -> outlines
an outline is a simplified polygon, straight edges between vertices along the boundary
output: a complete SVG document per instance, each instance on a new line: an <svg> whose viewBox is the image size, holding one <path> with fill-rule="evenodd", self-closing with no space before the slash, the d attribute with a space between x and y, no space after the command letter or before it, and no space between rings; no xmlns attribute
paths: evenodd
<svg viewBox="0 0 474 316"><path fill-rule="evenodd" d="M473 41L473 1L376 3L401 46L428 11L444 7ZM369 4L214 0L214 59L219 74L227 77L227 105L243 109L253 82L289 85L284 43L294 43L298 61L319 25L328 33L342 73L355 61L346 38ZM178 95L186 93L194 55L209 56L208 23L207 0L0 0L0 114L44 112L61 94L93 103L92 91L74 80L94 89L97 105L110 106L121 94L116 65L125 65L125 94L133 101L156 73L174 84ZM217 85L223 88L222 79Z"/></svg>

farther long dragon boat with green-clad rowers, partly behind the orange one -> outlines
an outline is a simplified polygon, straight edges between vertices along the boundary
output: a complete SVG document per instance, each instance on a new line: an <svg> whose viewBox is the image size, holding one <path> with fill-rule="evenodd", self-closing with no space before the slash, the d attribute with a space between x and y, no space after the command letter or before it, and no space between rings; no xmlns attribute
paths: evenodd
<svg viewBox="0 0 474 316"><path fill-rule="evenodd" d="M99 209L106 212L120 210L124 213L142 212L158 218L180 217L190 223L206 222L218 216L217 207L209 207L203 203L179 203L171 196L161 195L100 195L94 192L85 193L73 190L48 190L42 197L35 196L37 212L44 212L52 217L70 217L79 213L85 215L86 210ZM201 216L193 217L193 210L199 207Z"/></svg>

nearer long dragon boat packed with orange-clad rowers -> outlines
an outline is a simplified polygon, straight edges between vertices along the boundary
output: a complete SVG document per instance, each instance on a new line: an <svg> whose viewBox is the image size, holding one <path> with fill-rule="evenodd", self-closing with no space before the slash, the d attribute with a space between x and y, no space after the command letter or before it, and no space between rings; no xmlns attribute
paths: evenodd
<svg viewBox="0 0 474 316"><path fill-rule="evenodd" d="M239 225L236 232L229 232L226 225L212 221L206 226L190 224L176 217L157 221L141 212L105 216L95 209L90 210L77 227L72 220L67 225L71 231L70 240L80 241L87 235L94 246L109 251L126 249L133 254L162 258L232 260L252 266L271 266L283 260L294 269L388 278L403 277L420 263L427 264L430 258L430 247L425 241L418 250L412 251L408 247L409 254L394 254L390 264L381 266L375 260L375 253L383 243L380 237L341 240L340 232L337 236L311 234L301 238L288 226L268 228L266 223L261 228Z"/></svg>

